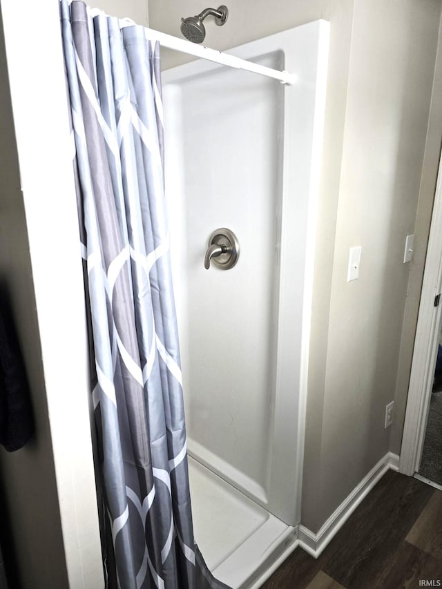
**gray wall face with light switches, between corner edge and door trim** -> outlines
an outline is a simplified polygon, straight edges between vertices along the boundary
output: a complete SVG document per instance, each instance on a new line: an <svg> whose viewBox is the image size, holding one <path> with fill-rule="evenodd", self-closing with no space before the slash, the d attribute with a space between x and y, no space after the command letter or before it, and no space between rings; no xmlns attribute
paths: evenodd
<svg viewBox="0 0 442 589"><path fill-rule="evenodd" d="M416 222L441 3L397 7L354 5L316 527L390 449L385 405L398 376L410 275L403 252ZM356 244L361 278L347 283Z"/></svg>

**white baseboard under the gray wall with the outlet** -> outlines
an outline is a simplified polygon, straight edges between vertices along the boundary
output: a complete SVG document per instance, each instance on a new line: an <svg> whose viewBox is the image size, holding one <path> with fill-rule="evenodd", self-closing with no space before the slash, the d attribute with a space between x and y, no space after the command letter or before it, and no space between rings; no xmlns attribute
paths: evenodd
<svg viewBox="0 0 442 589"><path fill-rule="evenodd" d="M364 477L364 479L354 488L354 490L347 496L347 498L339 505L339 507L327 519L324 525L320 528L317 534L311 532L303 525L298 527L299 545L312 557L318 558L329 541L337 534L347 521L350 515L358 507L359 503L365 499L367 494L372 490L374 485L383 477L387 470L398 470L399 456L392 452L387 452L381 460L374 465L372 470Z"/></svg>

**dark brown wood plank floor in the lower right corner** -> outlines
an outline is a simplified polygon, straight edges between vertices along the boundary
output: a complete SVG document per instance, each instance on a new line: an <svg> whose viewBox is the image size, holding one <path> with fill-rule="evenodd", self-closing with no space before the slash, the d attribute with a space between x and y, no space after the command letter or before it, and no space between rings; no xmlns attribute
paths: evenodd
<svg viewBox="0 0 442 589"><path fill-rule="evenodd" d="M297 548L262 588L423 586L442 587L442 491L390 470L317 560Z"/></svg>

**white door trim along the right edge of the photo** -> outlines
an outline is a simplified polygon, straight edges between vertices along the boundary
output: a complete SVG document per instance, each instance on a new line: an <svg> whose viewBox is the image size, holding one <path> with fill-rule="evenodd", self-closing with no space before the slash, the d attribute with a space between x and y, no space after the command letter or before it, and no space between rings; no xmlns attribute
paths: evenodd
<svg viewBox="0 0 442 589"><path fill-rule="evenodd" d="M399 472L412 476L419 470L425 427L436 365L436 350L441 325L442 302L434 307L434 298L442 291L442 166L434 196L427 258L421 291L421 303L414 340L414 352L407 411L399 460Z"/></svg>

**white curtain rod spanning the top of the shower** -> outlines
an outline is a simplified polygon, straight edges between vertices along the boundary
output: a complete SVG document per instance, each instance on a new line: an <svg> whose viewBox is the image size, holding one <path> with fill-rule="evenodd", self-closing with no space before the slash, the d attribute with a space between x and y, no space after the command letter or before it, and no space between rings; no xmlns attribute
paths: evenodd
<svg viewBox="0 0 442 589"><path fill-rule="evenodd" d="M121 19L119 23L120 28L135 25L131 19ZM191 41L178 39L178 37L167 35L165 32L160 32L152 28L145 27L144 32L148 41L159 41L160 45L175 51L195 55L195 57L201 57L202 59L208 59L209 61L215 61L216 64L229 66L229 68L247 70L262 76L267 76L279 80L282 84L287 84L288 86L293 86L297 81L296 75L291 74L290 72L280 72L279 70L273 70L273 68L253 64L253 61L240 59L240 57L235 57L234 55L229 55L228 53L223 53L222 51L210 49L205 46L195 45L194 43L191 43Z"/></svg>

